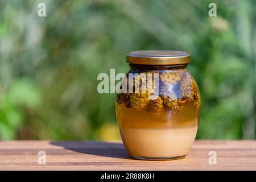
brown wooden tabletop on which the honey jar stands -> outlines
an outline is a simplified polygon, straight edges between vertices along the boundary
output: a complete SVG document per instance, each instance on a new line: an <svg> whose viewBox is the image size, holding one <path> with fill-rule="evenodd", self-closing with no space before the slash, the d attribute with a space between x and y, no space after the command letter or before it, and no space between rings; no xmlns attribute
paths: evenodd
<svg viewBox="0 0 256 182"><path fill-rule="evenodd" d="M46 152L44 156L38 152ZM217 164L209 164L209 152ZM42 158L43 157L43 158ZM213 161L213 160L210 160ZM0 170L256 170L256 140L196 140L184 159L129 158L121 142L0 142Z"/></svg>

